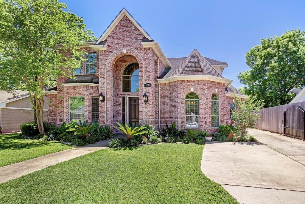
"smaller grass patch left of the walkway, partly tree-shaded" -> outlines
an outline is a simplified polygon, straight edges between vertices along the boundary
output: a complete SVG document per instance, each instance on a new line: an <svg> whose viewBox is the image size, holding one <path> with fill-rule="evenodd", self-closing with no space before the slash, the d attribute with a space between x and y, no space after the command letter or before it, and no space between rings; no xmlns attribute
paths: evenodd
<svg viewBox="0 0 305 204"><path fill-rule="evenodd" d="M0 135L0 167L71 148L59 142L25 139L19 133Z"/></svg>

